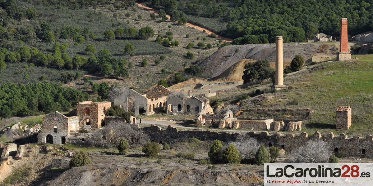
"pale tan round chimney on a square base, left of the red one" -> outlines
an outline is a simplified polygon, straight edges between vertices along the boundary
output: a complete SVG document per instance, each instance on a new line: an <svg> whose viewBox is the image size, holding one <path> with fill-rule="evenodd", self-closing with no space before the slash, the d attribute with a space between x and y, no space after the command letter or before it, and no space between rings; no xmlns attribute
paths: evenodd
<svg viewBox="0 0 373 186"><path fill-rule="evenodd" d="M271 91L287 88L283 84L283 52L282 52L282 36L276 37L276 83L271 86Z"/></svg>

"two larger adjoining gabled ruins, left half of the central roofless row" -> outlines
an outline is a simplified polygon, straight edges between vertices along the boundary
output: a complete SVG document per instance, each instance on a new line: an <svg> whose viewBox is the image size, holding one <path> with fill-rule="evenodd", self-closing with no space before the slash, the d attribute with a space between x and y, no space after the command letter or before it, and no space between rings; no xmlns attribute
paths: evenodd
<svg viewBox="0 0 373 186"><path fill-rule="evenodd" d="M119 105L127 112L134 112L136 116L140 114L148 116L156 112L164 112L166 100L170 94L171 91L162 85L150 89L143 95L128 89L114 99L114 104Z"/></svg>

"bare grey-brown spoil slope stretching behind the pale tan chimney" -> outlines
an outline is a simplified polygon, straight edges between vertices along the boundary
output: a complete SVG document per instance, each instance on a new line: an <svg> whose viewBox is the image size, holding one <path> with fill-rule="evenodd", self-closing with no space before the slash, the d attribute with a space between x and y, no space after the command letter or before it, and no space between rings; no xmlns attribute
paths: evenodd
<svg viewBox="0 0 373 186"><path fill-rule="evenodd" d="M338 42L315 42L315 43L284 43L283 61L291 61L295 55L302 55L305 60L314 55L335 56L339 50ZM200 64L205 72L216 77L222 74L233 64L243 60L268 60L275 62L276 44L248 44L226 46L217 50ZM222 77L220 77L222 78ZM228 77L226 77L228 78ZM219 78L218 78L219 79Z"/></svg>

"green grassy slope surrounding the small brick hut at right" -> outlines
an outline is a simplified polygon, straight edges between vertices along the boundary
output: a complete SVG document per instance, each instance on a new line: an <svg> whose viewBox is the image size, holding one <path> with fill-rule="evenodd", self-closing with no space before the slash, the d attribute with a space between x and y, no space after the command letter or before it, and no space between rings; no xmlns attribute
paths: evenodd
<svg viewBox="0 0 373 186"><path fill-rule="evenodd" d="M278 119L300 119L305 121L305 132L320 131L322 134L333 132L347 135L373 134L370 125L373 121L373 55L353 55L351 61L323 62L312 70L285 77L288 90L269 93L269 83L262 83L247 89L232 90L211 99L215 104L236 103L238 96L264 90L264 94L241 101L241 110L295 109L294 112L243 112L239 117ZM338 106L350 106L352 125L348 131L335 130L335 112ZM304 117L300 109L314 110Z"/></svg>

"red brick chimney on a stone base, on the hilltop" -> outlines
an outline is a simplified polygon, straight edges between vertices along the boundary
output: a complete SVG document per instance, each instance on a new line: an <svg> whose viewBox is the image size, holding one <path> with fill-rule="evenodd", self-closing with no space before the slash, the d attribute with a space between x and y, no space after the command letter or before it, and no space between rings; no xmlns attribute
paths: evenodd
<svg viewBox="0 0 373 186"><path fill-rule="evenodd" d="M347 18L342 18L341 41L339 44L339 52L337 53L337 61L351 60L351 53L348 52L347 25Z"/></svg>

